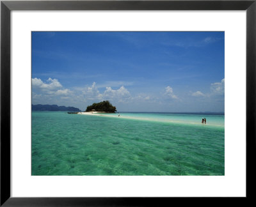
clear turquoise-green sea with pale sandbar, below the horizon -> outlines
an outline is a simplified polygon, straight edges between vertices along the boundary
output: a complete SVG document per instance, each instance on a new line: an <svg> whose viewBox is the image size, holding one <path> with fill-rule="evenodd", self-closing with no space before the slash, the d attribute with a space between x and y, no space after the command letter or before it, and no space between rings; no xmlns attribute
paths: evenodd
<svg viewBox="0 0 256 207"><path fill-rule="evenodd" d="M224 175L224 115L101 115L32 112L31 174Z"/></svg>

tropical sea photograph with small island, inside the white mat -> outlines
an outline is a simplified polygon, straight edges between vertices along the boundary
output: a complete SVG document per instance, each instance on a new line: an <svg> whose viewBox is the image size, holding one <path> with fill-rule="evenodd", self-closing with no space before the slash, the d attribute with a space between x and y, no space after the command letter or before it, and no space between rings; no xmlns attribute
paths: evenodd
<svg viewBox="0 0 256 207"><path fill-rule="evenodd" d="M31 31L31 176L225 176L225 32Z"/></svg>

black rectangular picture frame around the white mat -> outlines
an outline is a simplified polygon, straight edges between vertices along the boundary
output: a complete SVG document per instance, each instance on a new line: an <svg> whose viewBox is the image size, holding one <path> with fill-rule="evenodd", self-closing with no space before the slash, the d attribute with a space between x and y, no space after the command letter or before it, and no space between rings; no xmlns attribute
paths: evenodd
<svg viewBox="0 0 256 207"><path fill-rule="evenodd" d="M173 197L10 197L10 12L12 10L246 10L246 197L233 198L233 200L236 203L241 201L244 205L245 201L254 199L256 0L1 1L1 206L165 206L170 199L180 201L180 198ZM193 203L201 202L198 201L200 198L187 199ZM212 198L208 199L214 202Z"/></svg>

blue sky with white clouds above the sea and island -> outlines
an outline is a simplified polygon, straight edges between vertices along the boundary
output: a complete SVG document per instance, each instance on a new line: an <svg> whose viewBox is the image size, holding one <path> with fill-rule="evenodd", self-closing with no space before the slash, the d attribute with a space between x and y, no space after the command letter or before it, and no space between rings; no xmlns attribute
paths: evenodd
<svg viewBox="0 0 256 207"><path fill-rule="evenodd" d="M224 112L224 32L32 32L32 104Z"/></svg>

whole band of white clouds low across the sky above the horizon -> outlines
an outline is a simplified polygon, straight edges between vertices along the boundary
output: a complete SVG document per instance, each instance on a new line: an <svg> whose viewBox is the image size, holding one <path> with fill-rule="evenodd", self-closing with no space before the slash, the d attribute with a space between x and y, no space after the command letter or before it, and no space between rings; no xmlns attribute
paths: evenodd
<svg viewBox="0 0 256 207"><path fill-rule="evenodd" d="M109 82L110 83L110 82ZM112 82L113 83L113 82ZM107 86L106 88L99 88L99 85L96 82L93 82L91 85L84 86L83 88L70 88L67 89L62 86L58 79L47 79L47 81L42 81L41 79L34 78L32 79L32 98L33 104L58 104L58 105L67 105L74 107L81 107L84 110L87 105L91 105L93 102L100 102L102 100L109 100L116 107L129 107L129 104L138 104L144 103L147 107L156 107L159 104L170 104L176 105L176 102L181 102L183 100L178 98L173 92L173 88L167 86L164 88L164 91L159 91L159 93L130 93L130 91L125 88L126 86L117 86L124 82L115 82L115 86ZM211 86L211 88L210 88ZM99 89L98 89L99 88ZM220 95L223 95L225 89L225 79L220 82L214 82L209 84L208 93L202 93L201 91L191 91L190 95L195 97L204 97L205 100L211 98L223 98ZM210 92L211 89L211 92ZM177 91L176 91L177 93ZM180 95L182 96L182 95ZM190 96L190 98L191 98ZM189 98L189 97L188 97ZM171 101L173 100L173 102ZM195 98L196 100L196 98ZM220 99L221 100L221 99ZM141 109L143 111L143 109Z"/></svg>

